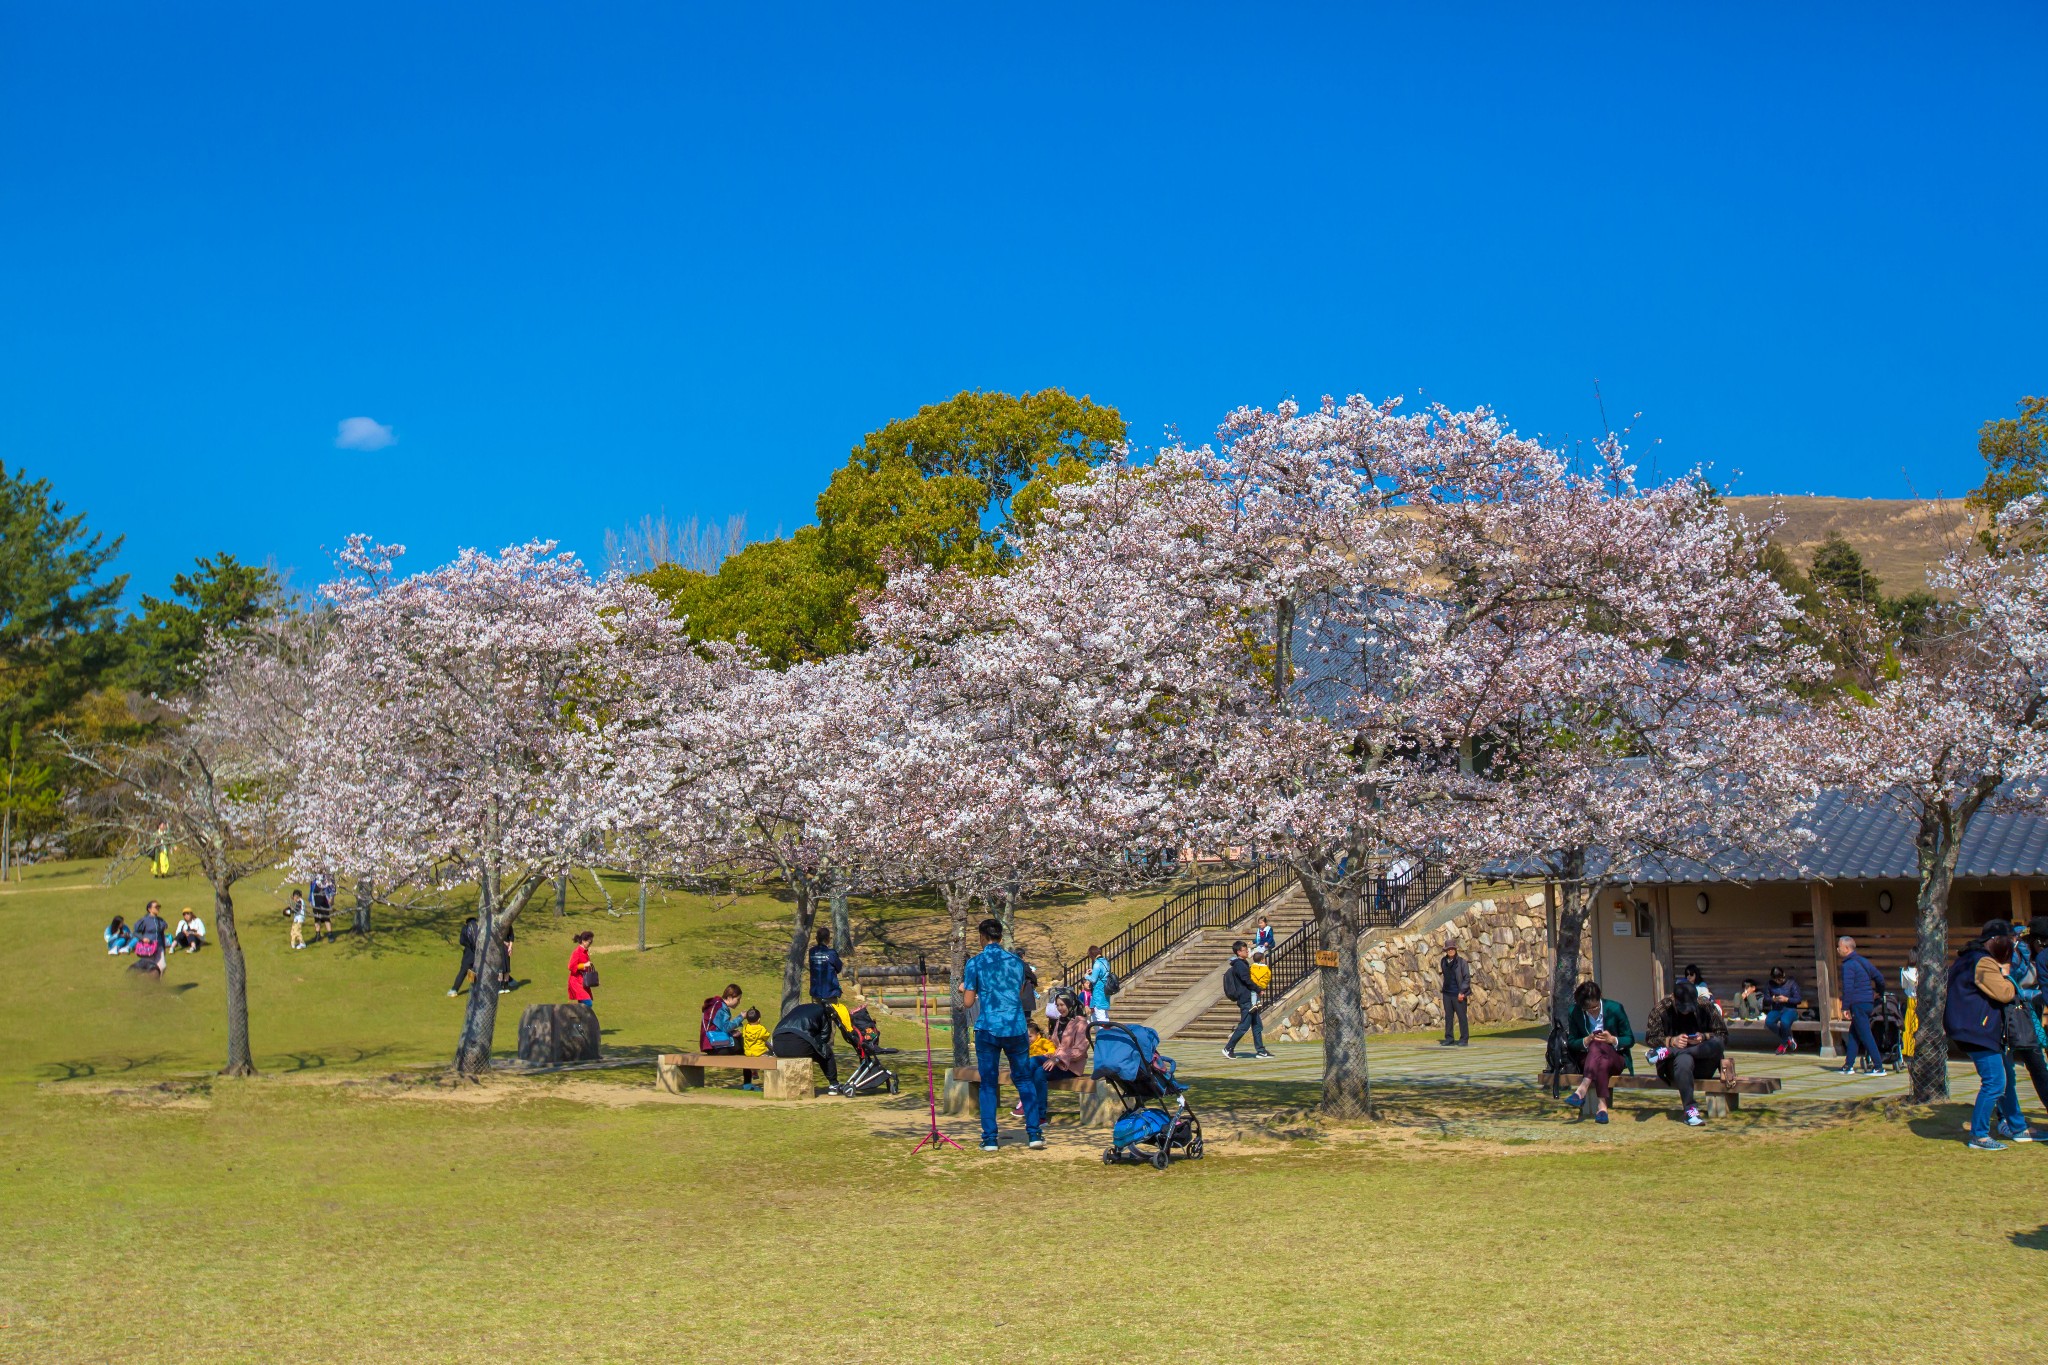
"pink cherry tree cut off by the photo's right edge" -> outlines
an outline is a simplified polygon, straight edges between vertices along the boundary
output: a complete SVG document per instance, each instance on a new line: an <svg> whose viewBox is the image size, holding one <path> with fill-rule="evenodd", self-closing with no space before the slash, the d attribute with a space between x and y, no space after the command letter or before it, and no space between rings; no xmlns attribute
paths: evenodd
<svg viewBox="0 0 2048 1365"><path fill-rule="evenodd" d="M1892 653L1872 692L1853 692L1786 737L1815 778L1913 821L1919 864L1913 1097L1948 1097L1948 925L1956 860L1987 808L2040 808L2048 782L2048 561L2042 503L1999 518L2003 555L1954 553L1931 575L1950 593L1921 647ZM1874 651L1882 653L1882 651Z"/></svg>

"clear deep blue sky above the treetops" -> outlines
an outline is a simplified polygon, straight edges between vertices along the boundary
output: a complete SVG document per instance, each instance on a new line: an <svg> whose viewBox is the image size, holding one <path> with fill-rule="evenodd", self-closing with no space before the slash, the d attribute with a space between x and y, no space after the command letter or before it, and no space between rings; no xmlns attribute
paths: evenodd
<svg viewBox="0 0 2048 1365"><path fill-rule="evenodd" d="M0 460L154 591L795 528L975 387L1151 446L1599 381L1663 473L1962 493L2048 391L2044 14L14 4Z"/></svg>

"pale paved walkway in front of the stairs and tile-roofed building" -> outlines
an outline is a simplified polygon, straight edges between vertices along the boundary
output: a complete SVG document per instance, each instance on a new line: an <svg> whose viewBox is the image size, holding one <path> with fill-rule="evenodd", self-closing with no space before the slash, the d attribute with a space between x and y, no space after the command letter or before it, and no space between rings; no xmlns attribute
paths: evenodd
<svg viewBox="0 0 2048 1365"><path fill-rule="evenodd" d="M1239 1060L1219 1056L1214 1044L1194 1040L1167 1040L1161 1052L1171 1056L1182 1076L1231 1076L1233 1081L1321 1081L1323 1044L1268 1044L1276 1054L1272 1060L1253 1060L1251 1042L1241 1044L1245 1052ZM1538 1038L1473 1038L1468 1048L1444 1048L1413 1036L1372 1038L1366 1056L1374 1081L1405 1081L1430 1085L1499 1085L1503 1089L1530 1089L1536 1072L1542 1070L1542 1040ZM1868 1099L1872 1095L1905 1095L1907 1078L1888 1076L1843 1076L1837 1066L1841 1058L1819 1058L1812 1052L1778 1056L1774 1052L1731 1054L1741 1076L1778 1076L1784 1087L1778 1095L1745 1095L1743 1105L1810 1103ZM1642 1064L1642 1048L1636 1048L1636 1070ZM1976 1072L1970 1066L1950 1062L1950 1095L1976 1095Z"/></svg>

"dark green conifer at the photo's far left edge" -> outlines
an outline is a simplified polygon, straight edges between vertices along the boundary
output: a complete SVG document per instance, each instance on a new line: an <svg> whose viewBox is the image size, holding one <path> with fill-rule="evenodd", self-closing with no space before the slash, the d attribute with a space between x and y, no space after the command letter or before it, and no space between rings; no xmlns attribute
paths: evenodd
<svg viewBox="0 0 2048 1365"><path fill-rule="evenodd" d="M0 465L0 722L31 733L98 688L121 659L121 551L51 495L49 479Z"/></svg>

